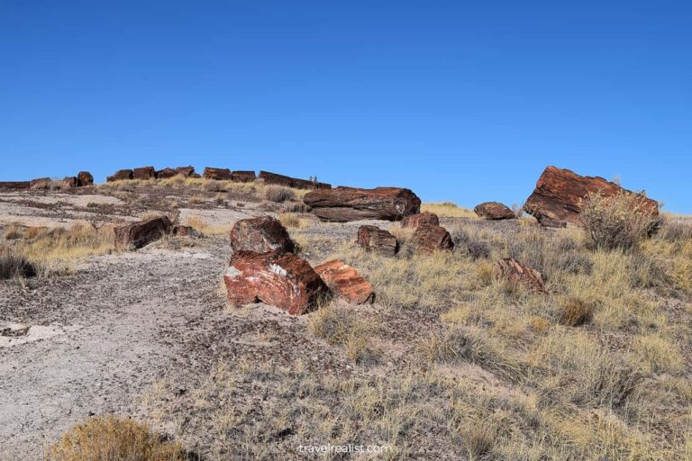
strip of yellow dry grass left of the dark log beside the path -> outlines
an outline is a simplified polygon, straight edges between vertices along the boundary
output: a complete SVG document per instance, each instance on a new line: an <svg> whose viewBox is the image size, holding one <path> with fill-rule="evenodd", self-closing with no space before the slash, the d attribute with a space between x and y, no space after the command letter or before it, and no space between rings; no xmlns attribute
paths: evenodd
<svg viewBox="0 0 692 461"><path fill-rule="evenodd" d="M17 242L17 251L36 261L68 260L103 255L114 250L114 225L95 229L86 222L77 222L69 229L27 232Z"/></svg>

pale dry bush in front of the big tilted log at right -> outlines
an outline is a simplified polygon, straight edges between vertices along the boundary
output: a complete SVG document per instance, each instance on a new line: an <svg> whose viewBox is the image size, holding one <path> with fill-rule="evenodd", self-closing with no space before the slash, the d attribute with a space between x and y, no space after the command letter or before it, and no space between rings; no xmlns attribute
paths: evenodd
<svg viewBox="0 0 692 461"><path fill-rule="evenodd" d="M623 192L609 197L588 194L579 221L596 249L632 249L656 228L659 218L642 195Z"/></svg>

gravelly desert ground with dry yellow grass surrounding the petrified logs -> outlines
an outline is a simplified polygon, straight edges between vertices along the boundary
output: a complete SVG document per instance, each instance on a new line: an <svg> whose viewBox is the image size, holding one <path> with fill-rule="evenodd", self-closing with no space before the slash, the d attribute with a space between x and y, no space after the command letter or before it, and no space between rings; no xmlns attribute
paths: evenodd
<svg viewBox="0 0 692 461"><path fill-rule="evenodd" d="M692 459L687 218L604 249L577 226L423 203L454 248L422 255L398 222L320 221L305 190L266 189L174 177L0 191L0 254L37 272L0 280L0 459L46 459L105 415L188 459ZM156 215L195 235L114 249L114 225ZM375 302L229 306L228 233L263 215L311 265L358 270ZM363 224L394 234L396 256L360 249ZM500 258L537 269L545 292L496 277ZM370 451L305 451L326 445Z"/></svg>

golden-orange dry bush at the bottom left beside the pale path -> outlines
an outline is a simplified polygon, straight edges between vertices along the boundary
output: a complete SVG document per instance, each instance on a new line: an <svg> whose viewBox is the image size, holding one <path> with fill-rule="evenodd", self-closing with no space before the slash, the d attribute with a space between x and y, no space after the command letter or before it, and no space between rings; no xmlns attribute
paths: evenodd
<svg viewBox="0 0 692 461"><path fill-rule="evenodd" d="M179 443L163 440L138 422L113 415L91 418L66 432L49 461L186 461Z"/></svg>

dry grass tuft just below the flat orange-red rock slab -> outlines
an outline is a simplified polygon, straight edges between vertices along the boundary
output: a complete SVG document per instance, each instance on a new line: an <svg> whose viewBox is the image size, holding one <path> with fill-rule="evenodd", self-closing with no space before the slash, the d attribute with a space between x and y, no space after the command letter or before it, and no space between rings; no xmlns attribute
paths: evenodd
<svg viewBox="0 0 692 461"><path fill-rule="evenodd" d="M370 337L377 326L351 305L330 303L310 315L308 330L329 344L343 346L350 360L360 362L372 352Z"/></svg>

